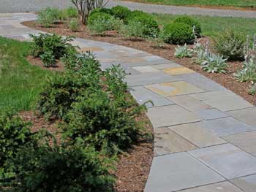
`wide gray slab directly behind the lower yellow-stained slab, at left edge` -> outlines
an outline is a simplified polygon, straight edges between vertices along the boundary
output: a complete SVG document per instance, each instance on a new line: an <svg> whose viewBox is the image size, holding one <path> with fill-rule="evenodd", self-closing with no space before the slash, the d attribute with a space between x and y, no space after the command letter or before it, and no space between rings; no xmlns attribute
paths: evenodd
<svg viewBox="0 0 256 192"><path fill-rule="evenodd" d="M128 75L125 79L129 86L150 85L153 83L172 82L177 80L178 78L162 72Z"/></svg>

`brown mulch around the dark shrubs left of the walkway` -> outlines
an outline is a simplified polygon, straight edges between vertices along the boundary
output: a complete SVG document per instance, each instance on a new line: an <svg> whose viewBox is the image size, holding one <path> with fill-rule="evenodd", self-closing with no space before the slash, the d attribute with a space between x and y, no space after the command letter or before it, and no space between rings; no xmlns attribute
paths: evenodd
<svg viewBox="0 0 256 192"><path fill-rule="evenodd" d="M58 123L59 121L48 121L39 117L34 112L20 112L21 117L32 123L31 131L39 131L44 128L51 134L56 135L60 141ZM153 128L146 114L142 120L146 120L146 130L153 133ZM153 142L140 142L134 145L131 150L119 155L117 171L114 173L117 178L116 192L141 192L143 191L153 159Z"/></svg>

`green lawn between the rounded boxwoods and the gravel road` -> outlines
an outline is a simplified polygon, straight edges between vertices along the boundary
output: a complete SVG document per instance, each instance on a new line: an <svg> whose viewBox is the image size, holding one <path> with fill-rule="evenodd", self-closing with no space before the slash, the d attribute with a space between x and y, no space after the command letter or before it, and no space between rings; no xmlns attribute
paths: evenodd
<svg viewBox="0 0 256 192"><path fill-rule="evenodd" d="M171 23L181 15L153 14L160 25ZM201 26L204 35L214 36L229 29L233 29L242 35L253 35L256 33L256 19L254 18L222 18L210 16L191 16L195 18Z"/></svg>

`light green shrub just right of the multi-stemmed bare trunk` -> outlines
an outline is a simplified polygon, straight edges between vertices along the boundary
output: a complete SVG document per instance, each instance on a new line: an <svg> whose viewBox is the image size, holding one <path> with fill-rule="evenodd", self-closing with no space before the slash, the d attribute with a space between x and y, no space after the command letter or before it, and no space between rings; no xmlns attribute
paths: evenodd
<svg viewBox="0 0 256 192"><path fill-rule="evenodd" d="M93 34L104 34L105 31L119 30L122 26L121 20L113 18L113 16L97 12L89 17L88 28Z"/></svg>

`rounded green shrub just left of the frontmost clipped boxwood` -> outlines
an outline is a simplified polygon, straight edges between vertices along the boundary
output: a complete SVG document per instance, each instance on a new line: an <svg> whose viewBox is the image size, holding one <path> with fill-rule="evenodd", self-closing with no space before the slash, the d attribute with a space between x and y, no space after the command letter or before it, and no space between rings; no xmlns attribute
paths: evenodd
<svg viewBox="0 0 256 192"><path fill-rule="evenodd" d="M132 24L131 24L132 23ZM135 25L135 23L139 23L140 30L142 31L143 37L157 37L159 34L159 27L157 21L153 18L148 18L145 16L137 16L131 20L129 20L128 25Z"/></svg>

